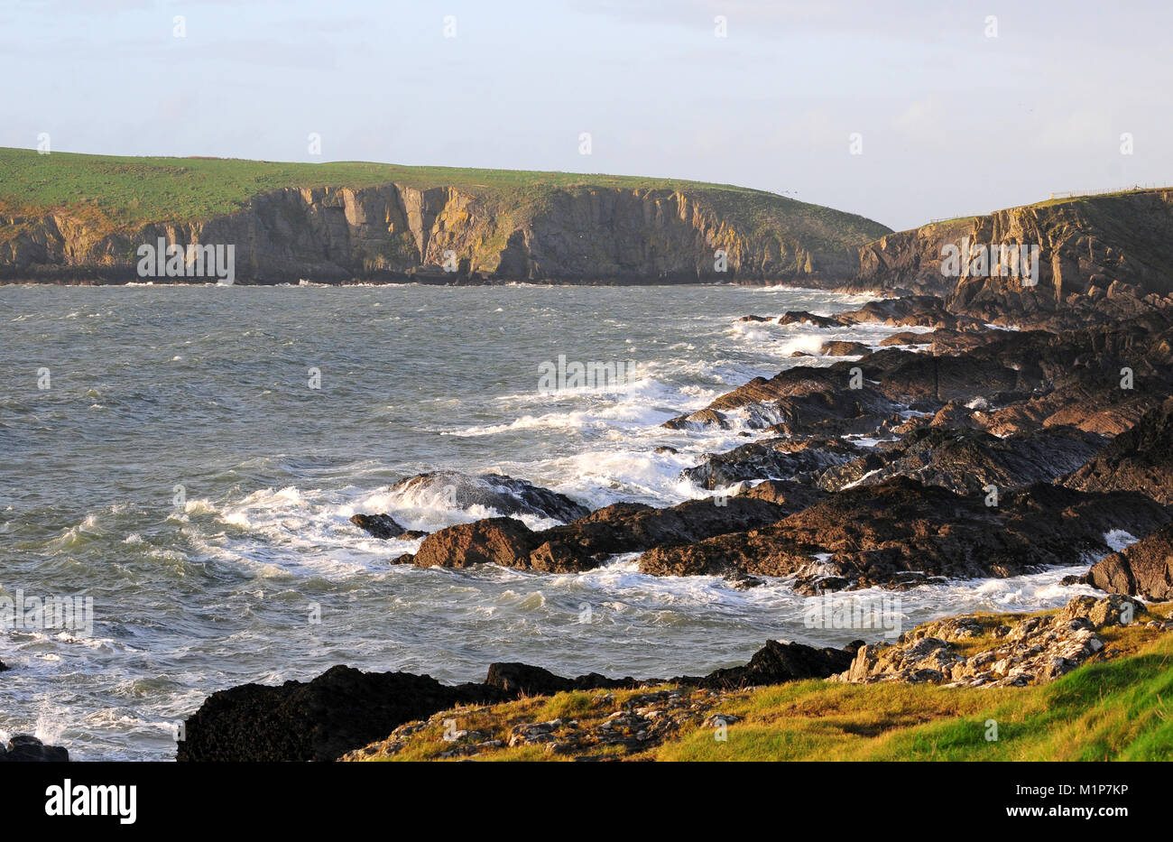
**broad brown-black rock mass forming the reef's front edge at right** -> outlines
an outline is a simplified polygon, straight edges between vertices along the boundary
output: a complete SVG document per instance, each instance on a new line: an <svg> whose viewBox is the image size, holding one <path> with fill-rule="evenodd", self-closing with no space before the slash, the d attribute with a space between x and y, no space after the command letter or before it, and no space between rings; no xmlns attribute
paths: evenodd
<svg viewBox="0 0 1173 842"><path fill-rule="evenodd" d="M924 576L1006 577L1074 565L1085 552L1105 551L1112 529L1143 534L1169 518L1131 493L1036 483L988 507L979 495L896 477L840 491L769 527L655 548L638 564L657 576L798 576L807 592L818 592L811 585L819 582L904 588Z"/></svg>

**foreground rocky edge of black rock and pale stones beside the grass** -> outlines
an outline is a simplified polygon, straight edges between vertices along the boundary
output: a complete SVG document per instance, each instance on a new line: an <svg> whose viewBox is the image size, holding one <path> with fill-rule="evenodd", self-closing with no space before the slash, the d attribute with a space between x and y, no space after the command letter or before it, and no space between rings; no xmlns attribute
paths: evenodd
<svg viewBox="0 0 1173 842"><path fill-rule="evenodd" d="M1171 613L1171 604L1076 597L1057 612L936 620L887 644L820 650L769 640L743 666L670 679L563 678L526 664L493 664L483 683L447 686L428 675L337 666L308 683L215 693L187 720L177 759L366 761L413 746L434 760L531 746L551 759L646 759L683 729L734 725L739 718L723 706L754 688L809 679L1040 686L1173 631ZM585 709L547 720L524 715L535 705L556 707L560 699ZM586 715L591 708L594 715Z"/></svg>

